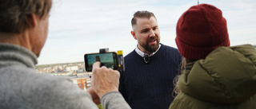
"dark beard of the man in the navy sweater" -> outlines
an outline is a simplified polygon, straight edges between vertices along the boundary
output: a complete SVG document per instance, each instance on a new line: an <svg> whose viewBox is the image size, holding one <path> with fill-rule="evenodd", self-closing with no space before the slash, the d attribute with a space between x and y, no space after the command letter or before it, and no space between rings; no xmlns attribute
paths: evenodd
<svg viewBox="0 0 256 109"><path fill-rule="evenodd" d="M155 45L149 45L149 41L151 40L156 40L157 41L157 43L155 44ZM146 41L146 44L143 44L142 43L142 45L141 45L147 52L149 52L149 53L154 53L155 51L157 51L158 50L158 47L159 47L159 40L158 40L158 38L156 38L156 37L152 37L152 38L150 38L149 40L147 40Z"/></svg>

